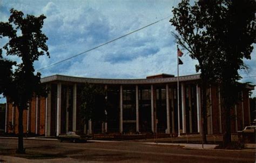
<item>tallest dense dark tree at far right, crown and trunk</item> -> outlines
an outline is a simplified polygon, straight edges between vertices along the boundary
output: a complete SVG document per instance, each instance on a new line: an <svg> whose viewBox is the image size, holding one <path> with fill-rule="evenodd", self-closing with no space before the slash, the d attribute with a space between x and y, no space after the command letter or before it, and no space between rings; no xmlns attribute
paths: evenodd
<svg viewBox="0 0 256 163"><path fill-rule="evenodd" d="M220 92L223 97L225 133L224 147L231 145L231 108L241 100L239 92L245 84L238 83L238 70L247 69L242 59L251 59L255 39L255 1L219 1L212 13L211 29L218 53Z"/></svg>

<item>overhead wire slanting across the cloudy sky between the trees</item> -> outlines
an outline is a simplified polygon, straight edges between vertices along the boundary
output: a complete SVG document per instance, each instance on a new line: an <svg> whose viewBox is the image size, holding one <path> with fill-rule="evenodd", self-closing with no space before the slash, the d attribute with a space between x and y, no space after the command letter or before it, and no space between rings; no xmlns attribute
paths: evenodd
<svg viewBox="0 0 256 163"><path fill-rule="evenodd" d="M71 57L69 57L69 58L60 60L60 61L55 62L55 63L53 63L53 64L50 64L50 65L48 65L48 66L42 67L41 69L36 70L36 72L37 72L37 71L44 70L44 69L47 69L48 67L57 65L57 64L59 64L59 63L65 62L66 60L75 58L75 57L77 57L77 56L83 55L83 54L86 53L86 52L95 50L95 49L97 49L97 48L99 48L99 47L102 47L102 46L104 46L104 45L106 45L106 44L112 43L112 42L114 42L114 41L116 41L116 40L118 40L118 39L120 39L120 38L123 38L123 37L126 37L126 36L128 36L128 35L131 35L132 33L135 33L135 32L137 32L137 31L139 31L139 30L142 30L142 29L144 29L144 28L147 28L148 26L151 26L151 25L153 25L153 24L156 24L156 23L158 23L158 22L160 22L160 21L163 21L164 19L169 18L169 17L170 17L170 16L167 16L167 17L162 18L162 19L160 19L160 20L158 20L158 21L156 21L156 22L154 22L154 23L151 23L151 24L149 24L149 25L143 26L142 28L139 28L139 29L137 29L137 30L134 30L134 31L132 31L132 32L129 32L129 33L127 33L126 35L123 35L123 36L114 38L114 39L110 40L109 42L106 42L106 43L104 43L104 44L100 44L100 45L98 45L98 46L96 46L96 47L93 47L92 49L89 49L89 50L86 50L86 51L84 51L84 52L78 53L77 55L74 55L74 56L71 56Z"/></svg>

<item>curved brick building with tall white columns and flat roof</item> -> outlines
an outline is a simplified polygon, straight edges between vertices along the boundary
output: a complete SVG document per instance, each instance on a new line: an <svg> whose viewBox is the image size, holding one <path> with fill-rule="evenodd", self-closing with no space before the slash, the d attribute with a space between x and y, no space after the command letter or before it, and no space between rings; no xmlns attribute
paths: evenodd
<svg viewBox="0 0 256 163"><path fill-rule="evenodd" d="M157 74L144 79L99 79L53 75L41 79L50 91L47 97L33 97L23 112L24 133L58 136L68 131L85 134L199 134L201 132L200 74L177 77ZM107 107L106 120L82 123L80 105L84 83L104 86ZM250 125L249 92L241 91L242 100L231 110L232 133ZM179 93L177 92L179 90ZM179 113L178 113L179 94ZM224 108L219 86L207 89L207 134L225 131ZM178 117L179 115L179 117ZM178 123L179 120L179 123ZM18 133L18 110L8 101L5 132Z"/></svg>

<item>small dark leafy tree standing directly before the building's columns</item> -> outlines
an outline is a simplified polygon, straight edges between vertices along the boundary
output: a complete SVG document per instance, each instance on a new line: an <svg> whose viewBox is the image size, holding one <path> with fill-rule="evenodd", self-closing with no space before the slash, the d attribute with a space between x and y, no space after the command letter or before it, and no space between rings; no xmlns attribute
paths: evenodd
<svg viewBox="0 0 256 163"><path fill-rule="evenodd" d="M103 86L85 83L80 105L80 116L82 123L86 124L88 120L92 121L92 137L94 137L94 128L96 121L105 121L106 109L106 91Z"/></svg>

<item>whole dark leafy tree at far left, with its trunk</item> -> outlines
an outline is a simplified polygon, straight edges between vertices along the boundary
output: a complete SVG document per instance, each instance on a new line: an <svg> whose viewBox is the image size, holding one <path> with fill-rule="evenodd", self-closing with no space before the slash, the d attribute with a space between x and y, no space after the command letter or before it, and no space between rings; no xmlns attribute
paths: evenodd
<svg viewBox="0 0 256 163"><path fill-rule="evenodd" d="M42 87L40 79L41 73L35 73L33 62L38 60L39 56L46 55L50 57L46 40L43 33L44 15L35 17L26 15L23 17L22 11L10 10L9 22L0 22L0 36L8 37L9 42L3 46L7 56L18 56L21 63L11 69L14 62L2 61L8 64L4 69L8 80L3 80L2 89L5 97L18 108L18 153L25 153L23 148L23 111L26 110L28 101L33 96L46 96L46 91ZM2 49L1 49L2 52ZM7 82L8 81L8 82ZM2 84L2 83L1 83Z"/></svg>

